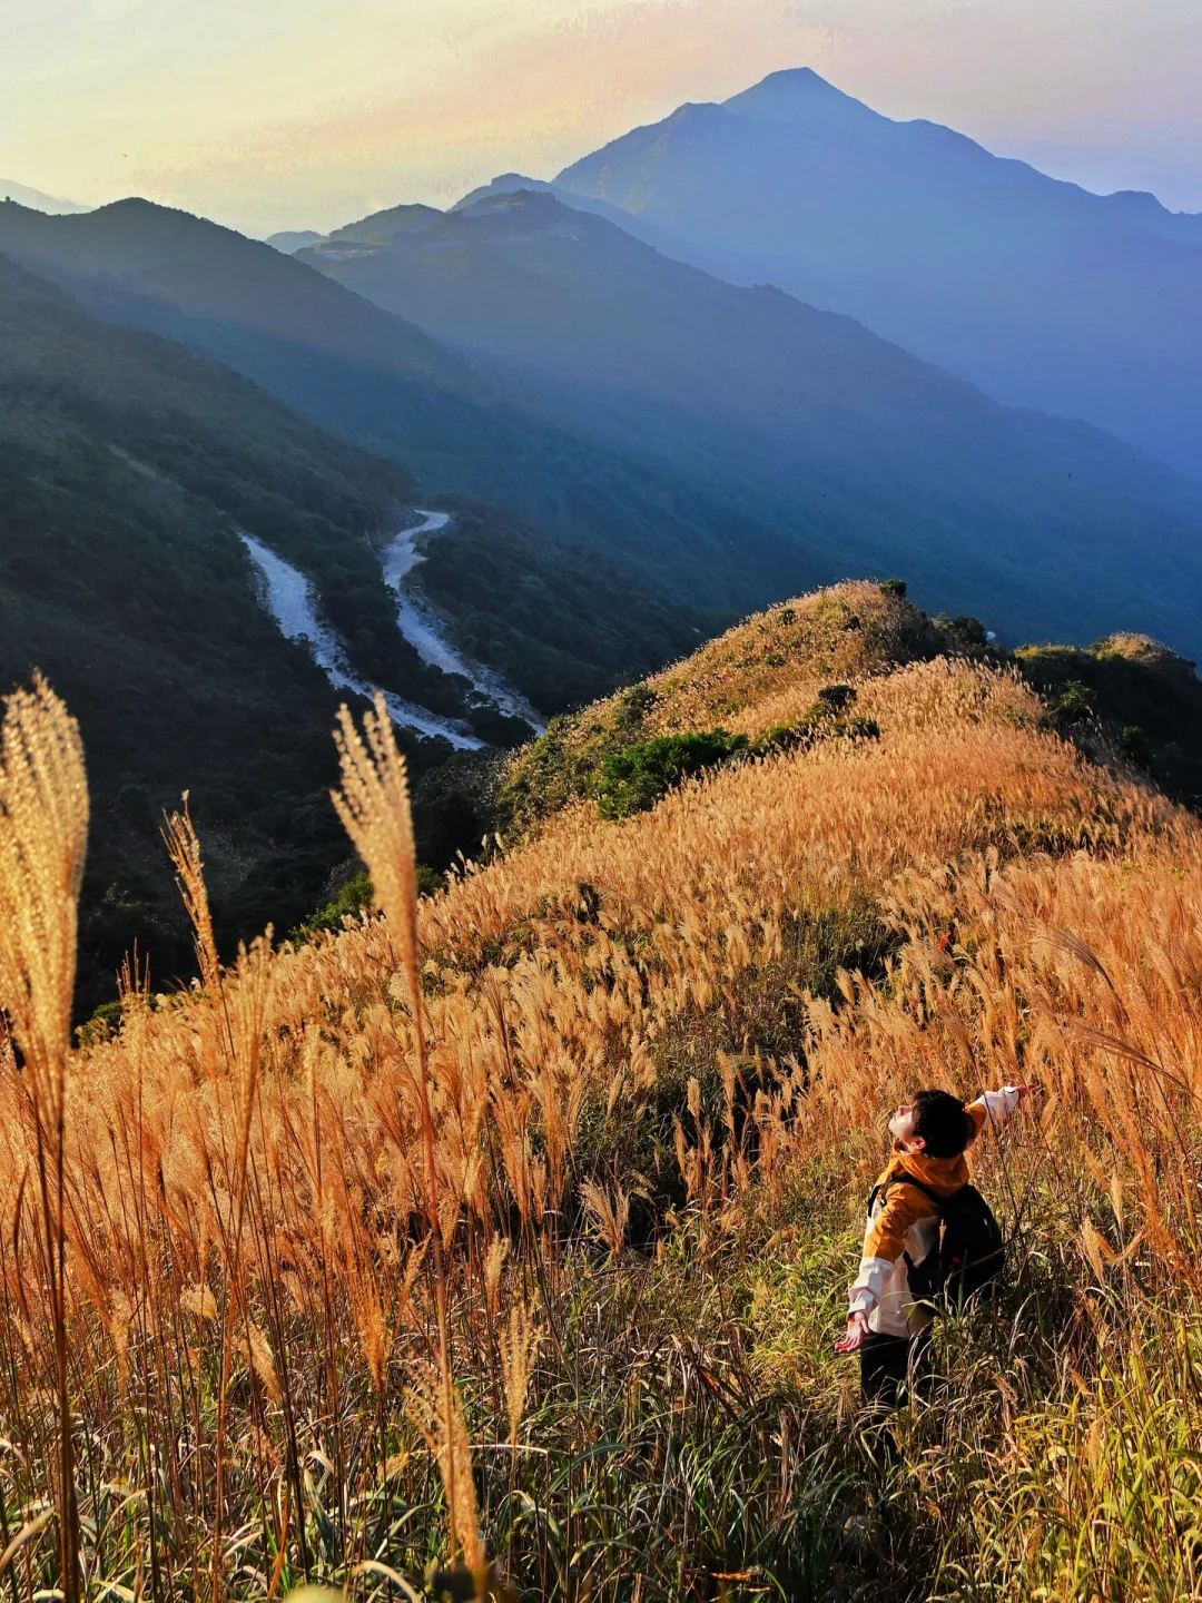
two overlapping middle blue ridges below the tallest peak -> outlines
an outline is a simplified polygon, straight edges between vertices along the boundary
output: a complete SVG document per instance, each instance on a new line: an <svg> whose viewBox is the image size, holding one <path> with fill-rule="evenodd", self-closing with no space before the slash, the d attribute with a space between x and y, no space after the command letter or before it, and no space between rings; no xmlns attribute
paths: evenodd
<svg viewBox="0 0 1202 1603"><path fill-rule="evenodd" d="M1189 481L553 196L397 208L300 256L146 202L0 207L0 250L694 606L901 567L1011 638L1135 611L1202 648Z"/></svg>

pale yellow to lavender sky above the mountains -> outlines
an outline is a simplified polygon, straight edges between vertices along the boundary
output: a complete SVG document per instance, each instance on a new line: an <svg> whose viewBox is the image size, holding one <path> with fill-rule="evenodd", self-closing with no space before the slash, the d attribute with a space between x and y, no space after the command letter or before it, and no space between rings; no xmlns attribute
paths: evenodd
<svg viewBox="0 0 1202 1603"><path fill-rule="evenodd" d="M798 66L1202 212L1202 0L0 0L0 176L324 231Z"/></svg>

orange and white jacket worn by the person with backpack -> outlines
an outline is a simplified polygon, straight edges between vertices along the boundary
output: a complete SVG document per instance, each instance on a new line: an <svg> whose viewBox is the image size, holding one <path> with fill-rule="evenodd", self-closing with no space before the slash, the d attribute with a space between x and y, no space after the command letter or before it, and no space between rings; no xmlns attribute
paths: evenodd
<svg viewBox="0 0 1202 1603"><path fill-rule="evenodd" d="M1014 1111L1018 1100L1016 1087L1006 1085L1000 1092L986 1092L974 1103L968 1103L965 1112L973 1124L970 1143L986 1124L1002 1124ZM914 1175L947 1197L968 1183L968 1159L963 1153L958 1157L894 1153L877 1185L883 1186L896 1175ZM912 1263L922 1263L938 1241L939 1210L934 1202L917 1186L889 1186L869 1212L864 1255L851 1287L848 1311L865 1313L869 1329L880 1335L917 1335L931 1322L931 1313L910 1295L906 1254L909 1252Z"/></svg>

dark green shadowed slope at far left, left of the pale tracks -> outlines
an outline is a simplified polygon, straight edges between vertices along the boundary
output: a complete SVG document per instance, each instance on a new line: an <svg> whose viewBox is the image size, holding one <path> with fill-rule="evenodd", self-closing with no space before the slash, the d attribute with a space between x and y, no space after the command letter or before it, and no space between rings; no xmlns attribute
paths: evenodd
<svg viewBox="0 0 1202 1603"><path fill-rule="evenodd" d="M287 930L345 856L325 798L337 697L260 606L237 527L313 559L353 616L364 535L412 481L3 258L0 353L0 689L42 668L83 729L96 1000L135 939L159 984L191 967L159 840L186 787L226 938Z"/></svg>

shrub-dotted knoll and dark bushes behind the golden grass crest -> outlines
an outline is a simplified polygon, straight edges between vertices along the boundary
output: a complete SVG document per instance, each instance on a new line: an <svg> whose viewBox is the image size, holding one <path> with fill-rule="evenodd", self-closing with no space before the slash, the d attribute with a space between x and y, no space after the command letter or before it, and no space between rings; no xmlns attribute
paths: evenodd
<svg viewBox="0 0 1202 1603"><path fill-rule="evenodd" d="M527 838L572 802L625 814L692 773L755 755L877 739L891 675L934 657L989 664L1042 697L1039 718L1202 813L1202 680L1146 635L1080 646L987 644L978 619L933 619L897 580L841 583L747 619L691 657L551 720L500 776L497 824ZM697 739L697 737L707 737ZM692 742L692 744L689 744Z"/></svg>

